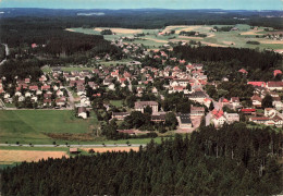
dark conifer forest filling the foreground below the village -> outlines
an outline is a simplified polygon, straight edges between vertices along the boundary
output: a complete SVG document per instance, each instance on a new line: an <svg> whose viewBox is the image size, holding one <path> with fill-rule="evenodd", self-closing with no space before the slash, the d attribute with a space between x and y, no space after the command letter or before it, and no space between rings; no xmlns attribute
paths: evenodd
<svg viewBox="0 0 283 196"><path fill-rule="evenodd" d="M1 174L3 195L275 195L283 136L237 123L201 127L139 151L21 163Z"/></svg>

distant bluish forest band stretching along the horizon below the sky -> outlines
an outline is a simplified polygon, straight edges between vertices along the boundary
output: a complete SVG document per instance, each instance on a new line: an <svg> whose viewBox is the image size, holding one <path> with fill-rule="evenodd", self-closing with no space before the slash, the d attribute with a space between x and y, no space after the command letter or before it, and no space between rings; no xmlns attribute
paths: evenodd
<svg viewBox="0 0 283 196"><path fill-rule="evenodd" d="M267 26L282 29L282 11L227 11L227 10L52 10L52 9L0 9L0 17L36 19L59 22L70 27L126 27L162 28L168 25L235 25ZM82 13L88 14L87 16ZM95 13L95 14L94 14ZM102 14L96 14L102 13ZM270 17L270 16L273 17ZM245 19L245 20L243 20Z"/></svg>

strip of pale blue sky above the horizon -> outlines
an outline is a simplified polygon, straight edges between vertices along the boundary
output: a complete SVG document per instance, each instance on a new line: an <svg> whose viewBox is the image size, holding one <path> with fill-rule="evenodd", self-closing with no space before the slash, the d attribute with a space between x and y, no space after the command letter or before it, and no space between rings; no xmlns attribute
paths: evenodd
<svg viewBox="0 0 283 196"><path fill-rule="evenodd" d="M282 10L283 0L0 0L0 8Z"/></svg>

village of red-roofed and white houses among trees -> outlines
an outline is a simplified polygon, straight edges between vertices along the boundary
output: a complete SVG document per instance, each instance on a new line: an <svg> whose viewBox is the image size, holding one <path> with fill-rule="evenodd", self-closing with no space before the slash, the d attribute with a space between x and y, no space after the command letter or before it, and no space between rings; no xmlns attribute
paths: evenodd
<svg viewBox="0 0 283 196"><path fill-rule="evenodd" d="M206 125L220 127L236 121L250 121L257 124L282 127L283 102L280 91L283 82L247 82L254 87L251 106L245 108L241 97L230 99L221 97L213 100L206 91L207 85L217 87L218 83L208 82L204 64L190 63L183 59L170 57L168 46L159 50L147 50L140 44L123 42L126 38L113 40L112 45L120 47L124 56L135 59L127 63L107 66L96 64L93 70L63 71L63 68L51 68L38 81L33 78L15 78L8 84L0 79L0 100L2 109L42 109L74 110L77 118L87 119L91 110L106 122L124 121L133 111L150 114L153 123L165 123L167 113L173 112L177 121L176 132L189 133L197 130L201 121ZM181 42L181 45L185 45ZM32 45L35 47L35 45ZM111 56L103 57L111 60ZM145 63L145 59L160 62L160 66ZM100 61L99 57L96 57ZM143 61L143 63L142 63ZM172 65L173 64L173 65ZM238 73L246 75L245 69ZM274 76L282 75L275 70ZM227 78L223 78L225 82ZM170 95L181 95L189 105L182 109L164 108L174 105L168 101ZM262 99L271 97L271 105L262 108ZM109 100L120 100L119 107L111 106ZM14 105L9 108L5 105ZM148 111L149 110L149 111ZM123 126L121 126L123 127ZM173 126L172 126L173 127ZM138 128L119 130L121 133L135 134Z"/></svg>

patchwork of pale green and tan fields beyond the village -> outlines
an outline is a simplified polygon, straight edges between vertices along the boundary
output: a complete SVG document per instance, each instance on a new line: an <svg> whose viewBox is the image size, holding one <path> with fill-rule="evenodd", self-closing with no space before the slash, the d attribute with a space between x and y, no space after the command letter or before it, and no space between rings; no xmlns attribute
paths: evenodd
<svg viewBox="0 0 283 196"><path fill-rule="evenodd" d="M164 29L160 29L162 32L169 32L169 30L175 30L174 35L170 36L157 36L158 29L138 29L143 33L149 35L146 35L142 37L142 39L136 39L134 42L136 44L143 44L147 46L149 49L158 48L169 41L189 41L189 40L196 40L202 42L202 45L213 46L213 47L236 47L236 48L258 48L260 50L263 49L282 49L283 41L274 42L270 39L264 38L256 38L256 36L262 36L264 34L268 34L269 32L264 32L264 27L257 27L257 29L250 28L249 25L246 24L238 24L235 25L235 27L238 28L238 30L235 32L210 32L210 29L213 26L222 27L222 26L233 26L233 25L202 25L202 26L167 26ZM102 28L101 28L102 29ZM115 28L111 28L115 29ZM98 30L94 29L86 29L86 28L72 28L73 32L84 33L84 34L99 34ZM199 32L201 34L208 35L205 38L201 37L186 37L186 36L179 36L179 33L181 30L195 30ZM270 30L272 30L270 28ZM133 32L136 32L136 29L123 29L119 28L116 35L110 35L104 36L108 40L113 40L114 38L121 37L121 36L132 36ZM172 39L172 37L175 37ZM260 45L247 45L246 42L250 41L259 41Z"/></svg>

